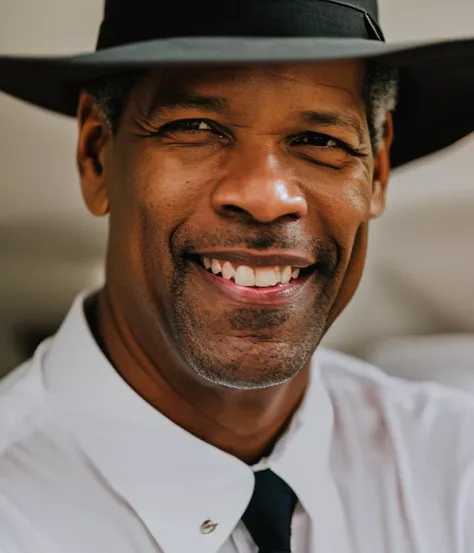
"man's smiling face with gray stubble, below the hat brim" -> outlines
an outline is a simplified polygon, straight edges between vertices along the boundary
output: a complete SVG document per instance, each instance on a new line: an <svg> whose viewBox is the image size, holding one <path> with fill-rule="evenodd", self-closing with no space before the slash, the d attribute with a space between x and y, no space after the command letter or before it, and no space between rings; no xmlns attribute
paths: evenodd
<svg viewBox="0 0 474 553"><path fill-rule="evenodd" d="M357 287L388 173L363 87L357 62L169 69L135 87L83 188L106 191L108 286L138 339L146 325L228 387L301 370Z"/></svg>

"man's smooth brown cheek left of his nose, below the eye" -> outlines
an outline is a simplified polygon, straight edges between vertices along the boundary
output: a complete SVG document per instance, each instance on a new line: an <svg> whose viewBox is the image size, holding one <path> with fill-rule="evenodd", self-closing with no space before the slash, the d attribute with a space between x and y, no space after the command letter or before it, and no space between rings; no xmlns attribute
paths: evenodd
<svg viewBox="0 0 474 553"><path fill-rule="evenodd" d="M128 152L116 173L120 197L111 217L114 235L120 236L116 249L121 250L123 270L131 272L134 281L148 289L157 283L168 288L175 270L170 240L206 209L215 167L210 162L198 166L186 156L155 147L129 147Z"/></svg>

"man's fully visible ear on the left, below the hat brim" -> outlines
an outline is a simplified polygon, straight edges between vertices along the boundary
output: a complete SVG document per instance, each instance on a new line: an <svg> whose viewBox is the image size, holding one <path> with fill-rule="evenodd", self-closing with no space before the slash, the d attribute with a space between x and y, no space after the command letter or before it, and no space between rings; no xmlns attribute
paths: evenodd
<svg viewBox="0 0 474 553"><path fill-rule="evenodd" d="M105 180L107 152L112 143L112 131L95 99L83 92L77 109L79 137L77 165L84 201L97 216L109 211L109 196Z"/></svg>

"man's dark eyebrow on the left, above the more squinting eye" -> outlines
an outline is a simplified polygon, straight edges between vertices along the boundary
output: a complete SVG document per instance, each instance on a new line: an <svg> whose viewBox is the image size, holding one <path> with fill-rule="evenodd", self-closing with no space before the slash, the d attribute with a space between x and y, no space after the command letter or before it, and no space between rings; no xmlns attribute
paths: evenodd
<svg viewBox="0 0 474 553"><path fill-rule="evenodd" d="M215 113L222 113L229 109L229 103L225 98L218 96L203 96L189 90L157 90L150 107L147 110L147 117L152 119L159 117L173 109L202 109Z"/></svg>

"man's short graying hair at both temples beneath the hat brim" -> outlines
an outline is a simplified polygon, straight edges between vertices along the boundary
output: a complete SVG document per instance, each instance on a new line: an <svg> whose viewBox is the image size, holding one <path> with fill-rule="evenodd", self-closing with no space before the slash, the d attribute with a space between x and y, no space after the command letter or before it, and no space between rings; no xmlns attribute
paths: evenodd
<svg viewBox="0 0 474 553"><path fill-rule="evenodd" d="M112 132L117 133L127 99L142 73L113 75L85 86L101 108ZM378 151L385 134L387 114L394 111L398 96L398 72L369 61L366 69L365 96L370 140Z"/></svg>

